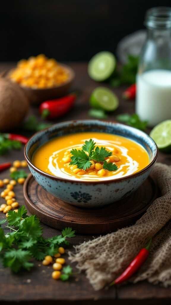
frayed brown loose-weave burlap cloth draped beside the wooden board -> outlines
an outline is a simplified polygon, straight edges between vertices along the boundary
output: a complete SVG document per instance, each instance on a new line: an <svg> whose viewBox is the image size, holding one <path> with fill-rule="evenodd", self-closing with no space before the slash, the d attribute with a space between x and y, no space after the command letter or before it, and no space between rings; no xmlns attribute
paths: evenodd
<svg viewBox="0 0 171 305"><path fill-rule="evenodd" d="M150 255L130 282L171 285L171 167L157 163L151 175L162 196L133 226L84 242L69 253L95 290L120 275L150 238Z"/></svg>

